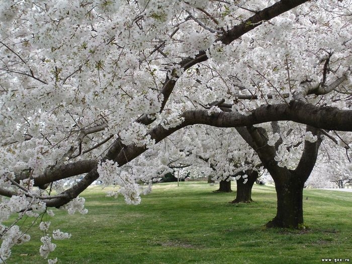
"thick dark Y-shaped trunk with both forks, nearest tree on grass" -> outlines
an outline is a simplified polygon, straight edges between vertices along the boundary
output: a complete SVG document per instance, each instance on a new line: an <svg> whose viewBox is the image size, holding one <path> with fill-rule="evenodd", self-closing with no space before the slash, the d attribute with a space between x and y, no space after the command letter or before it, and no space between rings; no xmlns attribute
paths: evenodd
<svg viewBox="0 0 352 264"><path fill-rule="evenodd" d="M237 131L256 151L275 182L278 198L277 214L267 223L267 227L303 227L303 187L315 165L322 141L319 130L307 126L306 131L316 135L317 140L304 142L303 152L295 170L280 167L275 161L276 149L267 144L268 136L265 129L250 126L238 128Z"/></svg>

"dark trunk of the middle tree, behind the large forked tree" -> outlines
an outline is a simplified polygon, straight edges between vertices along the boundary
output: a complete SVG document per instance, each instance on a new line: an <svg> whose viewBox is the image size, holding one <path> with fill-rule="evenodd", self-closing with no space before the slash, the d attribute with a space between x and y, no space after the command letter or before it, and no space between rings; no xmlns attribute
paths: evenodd
<svg viewBox="0 0 352 264"><path fill-rule="evenodd" d="M237 192L236 192L236 199L233 200L232 204L237 203L250 203L252 201L252 187L255 183L255 180L258 178L258 172L253 171L246 171L248 175L247 182L244 184L244 179L241 177L239 180L236 180L237 183Z"/></svg>

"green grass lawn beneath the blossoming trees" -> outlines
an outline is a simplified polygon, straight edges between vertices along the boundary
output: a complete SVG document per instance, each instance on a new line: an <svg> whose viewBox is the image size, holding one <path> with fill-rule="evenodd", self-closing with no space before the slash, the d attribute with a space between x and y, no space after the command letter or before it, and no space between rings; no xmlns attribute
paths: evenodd
<svg viewBox="0 0 352 264"><path fill-rule="evenodd" d="M86 190L89 214L56 210L52 228L72 238L56 241L58 263L321 263L352 261L352 193L304 190L305 230L266 229L276 213L273 187L256 186L251 204L229 204L235 193L212 193L204 182L159 184L138 206ZM232 189L235 189L233 185ZM308 200L305 198L308 197ZM15 246L8 263L47 263L38 228ZM22 255L21 255L22 254Z"/></svg>

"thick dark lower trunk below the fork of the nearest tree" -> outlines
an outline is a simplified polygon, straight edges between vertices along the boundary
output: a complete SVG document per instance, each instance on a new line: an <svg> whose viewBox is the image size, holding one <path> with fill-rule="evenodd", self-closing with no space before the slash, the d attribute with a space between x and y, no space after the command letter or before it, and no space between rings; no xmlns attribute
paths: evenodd
<svg viewBox="0 0 352 264"><path fill-rule="evenodd" d="M304 183L296 177L275 182L278 209L275 218L267 223L267 227L304 228L303 187Z"/></svg>

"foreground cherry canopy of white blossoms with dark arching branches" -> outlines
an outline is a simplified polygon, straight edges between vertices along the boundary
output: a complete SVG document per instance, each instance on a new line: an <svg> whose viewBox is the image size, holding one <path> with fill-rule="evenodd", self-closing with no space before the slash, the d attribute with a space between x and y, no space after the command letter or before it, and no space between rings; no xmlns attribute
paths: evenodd
<svg viewBox="0 0 352 264"><path fill-rule="evenodd" d="M138 203L133 159L185 127L247 127L259 144L253 125L290 120L314 155L321 129L352 131L350 1L0 3L2 262L30 239L11 214L84 214L97 179ZM69 237L48 226L43 257Z"/></svg>

